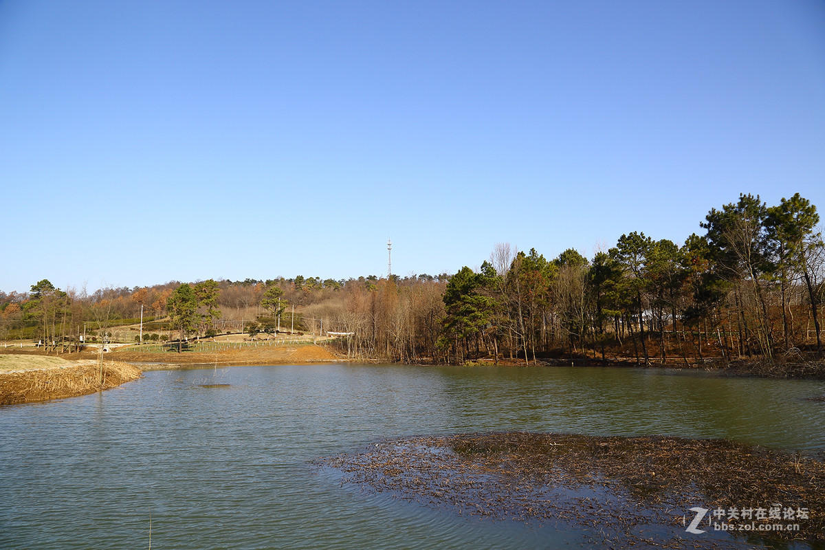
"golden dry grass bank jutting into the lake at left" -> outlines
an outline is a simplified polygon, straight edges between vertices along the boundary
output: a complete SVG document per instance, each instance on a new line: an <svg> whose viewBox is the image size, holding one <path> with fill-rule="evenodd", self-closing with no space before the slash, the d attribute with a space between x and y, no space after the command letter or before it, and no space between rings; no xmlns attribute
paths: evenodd
<svg viewBox="0 0 825 550"><path fill-rule="evenodd" d="M69 366L0 373L0 406L100 392L141 375L140 369L132 364L106 361L101 382L97 361L64 363Z"/></svg>

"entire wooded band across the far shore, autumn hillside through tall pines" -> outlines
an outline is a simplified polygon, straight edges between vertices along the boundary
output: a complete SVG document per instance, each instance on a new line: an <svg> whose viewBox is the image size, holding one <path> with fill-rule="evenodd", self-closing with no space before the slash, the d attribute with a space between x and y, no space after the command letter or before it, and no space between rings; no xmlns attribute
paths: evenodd
<svg viewBox="0 0 825 550"><path fill-rule="evenodd" d="M455 274L172 281L139 288L0 292L0 340L56 353L138 322L145 338L332 332L362 360L623 360L638 364L822 357L825 247L816 207L758 195L710 209L681 245L623 234L591 258L498 243ZM481 259L479 259L481 260ZM141 313L142 312L142 313Z"/></svg>

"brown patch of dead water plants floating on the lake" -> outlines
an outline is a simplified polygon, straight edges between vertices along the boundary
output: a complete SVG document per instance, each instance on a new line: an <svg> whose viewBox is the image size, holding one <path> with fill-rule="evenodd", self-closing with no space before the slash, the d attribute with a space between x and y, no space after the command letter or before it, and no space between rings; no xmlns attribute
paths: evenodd
<svg viewBox="0 0 825 550"><path fill-rule="evenodd" d="M431 436L387 441L319 464L342 472L342 482L372 491L460 514L560 521L604 535L600 543L630 546L641 542L642 533L669 533L705 548L701 544L709 539L686 534L682 524L684 515L692 519L688 510L694 506L807 509L798 532L762 534L825 540L825 463L727 440L526 432ZM750 542L760 540L752 533Z"/></svg>

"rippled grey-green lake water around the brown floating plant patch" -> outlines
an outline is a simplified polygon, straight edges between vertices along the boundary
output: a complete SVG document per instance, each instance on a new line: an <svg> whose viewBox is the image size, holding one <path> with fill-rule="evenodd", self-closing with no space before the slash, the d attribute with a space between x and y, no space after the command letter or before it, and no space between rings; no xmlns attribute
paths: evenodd
<svg viewBox="0 0 825 550"><path fill-rule="evenodd" d="M230 384L201 388L200 384ZM0 408L0 548L578 548L369 495L309 461L491 430L825 449L825 382L660 369L322 364L153 371ZM686 503L686 507L696 503ZM150 521L151 518L151 521Z"/></svg>

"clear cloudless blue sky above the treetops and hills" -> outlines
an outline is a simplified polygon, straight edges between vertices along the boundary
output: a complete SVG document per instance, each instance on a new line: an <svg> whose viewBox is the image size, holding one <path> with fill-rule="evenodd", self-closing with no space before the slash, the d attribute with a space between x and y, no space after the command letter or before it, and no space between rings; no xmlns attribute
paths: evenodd
<svg viewBox="0 0 825 550"><path fill-rule="evenodd" d="M0 290L825 218L825 2L0 1Z"/></svg>

